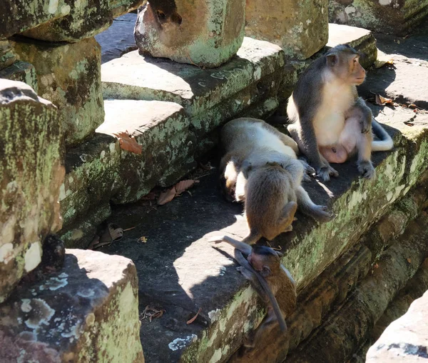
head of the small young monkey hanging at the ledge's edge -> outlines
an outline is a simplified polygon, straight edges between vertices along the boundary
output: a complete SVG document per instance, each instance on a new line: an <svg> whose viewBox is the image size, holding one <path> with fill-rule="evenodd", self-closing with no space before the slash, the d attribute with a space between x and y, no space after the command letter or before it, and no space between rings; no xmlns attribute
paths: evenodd
<svg viewBox="0 0 428 363"><path fill-rule="evenodd" d="M248 255L247 260L255 271L259 272L261 276L267 278L270 274L276 276L281 268L282 253L276 252L267 246L253 246L253 250Z"/></svg>

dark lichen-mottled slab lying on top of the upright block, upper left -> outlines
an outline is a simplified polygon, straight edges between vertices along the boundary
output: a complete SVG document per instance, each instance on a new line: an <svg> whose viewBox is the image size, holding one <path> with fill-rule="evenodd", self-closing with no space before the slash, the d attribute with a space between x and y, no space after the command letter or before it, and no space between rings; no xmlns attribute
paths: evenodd
<svg viewBox="0 0 428 363"><path fill-rule="evenodd" d="M146 0L68 1L69 14L24 32L25 36L46 41L80 41L111 26L113 17L136 9Z"/></svg>

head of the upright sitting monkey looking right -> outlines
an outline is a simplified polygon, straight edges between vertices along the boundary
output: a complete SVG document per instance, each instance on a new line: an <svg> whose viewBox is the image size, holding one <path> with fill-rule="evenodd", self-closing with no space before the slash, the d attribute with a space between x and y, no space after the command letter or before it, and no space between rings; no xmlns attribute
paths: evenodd
<svg viewBox="0 0 428 363"><path fill-rule="evenodd" d="M346 84L359 86L365 81L365 69L360 64L360 53L352 46L341 44L326 54L330 71Z"/></svg>

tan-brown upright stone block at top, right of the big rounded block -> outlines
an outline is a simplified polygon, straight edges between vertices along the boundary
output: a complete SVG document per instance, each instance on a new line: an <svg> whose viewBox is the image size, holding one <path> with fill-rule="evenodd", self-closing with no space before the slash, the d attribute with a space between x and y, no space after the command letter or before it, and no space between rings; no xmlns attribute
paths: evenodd
<svg viewBox="0 0 428 363"><path fill-rule="evenodd" d="M255 0L245 7L245 35L270 41L287 58L307 59L328 39L328 0Z"/></svg>

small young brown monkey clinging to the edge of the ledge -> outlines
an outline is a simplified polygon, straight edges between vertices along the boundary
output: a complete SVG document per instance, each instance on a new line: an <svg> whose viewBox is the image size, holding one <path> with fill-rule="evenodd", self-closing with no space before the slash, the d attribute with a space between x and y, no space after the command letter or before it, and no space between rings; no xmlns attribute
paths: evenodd
<svg viewBox="0 0 428 363"><path fill-rule="evenodd" d="M265 318L246 339L245 347L257 346L276 324L279 324L282 332L287 332L285 317L296 307L296 287L290 272L280 262L282 254L266 246L250 247L228 236L220 239L214 237L210 242L228 242L235 247L235 259L241 266L238 267L239 271L250 280L267 306ZM247 259L243 254L248 256Z"/></svg>

